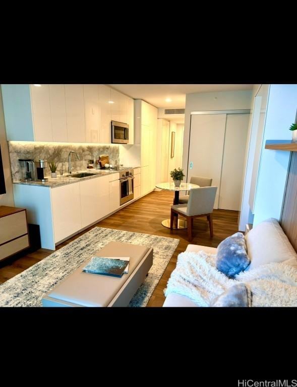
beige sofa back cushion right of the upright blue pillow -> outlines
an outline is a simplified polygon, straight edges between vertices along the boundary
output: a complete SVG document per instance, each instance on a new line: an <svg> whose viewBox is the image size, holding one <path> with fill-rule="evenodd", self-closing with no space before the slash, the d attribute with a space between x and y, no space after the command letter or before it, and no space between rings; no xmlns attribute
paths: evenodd
<svg viewBox="0 0 297 387"><path fill-rule="evenodd" d="M267 219L245 236L251 265L248 270L271 262L284 262L287 264L297 260L297 253L290 244L287 236L274 218Z"/></svg>

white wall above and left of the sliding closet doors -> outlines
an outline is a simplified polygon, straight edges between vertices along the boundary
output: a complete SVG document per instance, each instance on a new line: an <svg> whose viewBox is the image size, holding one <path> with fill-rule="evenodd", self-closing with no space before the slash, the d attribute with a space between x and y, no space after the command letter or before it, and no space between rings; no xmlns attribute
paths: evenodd
<svg viewBox="0 0 297 387"><path fill-rule="evenodd" d="M223 91L186 95L186 113L183 145L183 169L188 170L191 111L235 110L251 108L252 91ZM185 173L186 174L186 173Z"/></svg>

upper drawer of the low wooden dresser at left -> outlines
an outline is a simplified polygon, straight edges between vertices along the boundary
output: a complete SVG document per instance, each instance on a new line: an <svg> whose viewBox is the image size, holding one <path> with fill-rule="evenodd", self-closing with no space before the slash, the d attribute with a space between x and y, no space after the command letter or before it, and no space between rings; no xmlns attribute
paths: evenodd
<svg viewBox="0 0 297 387"><path fill-rule="evenodd" d="M0 244L27 234L26 211L0 218Z"/></svg>

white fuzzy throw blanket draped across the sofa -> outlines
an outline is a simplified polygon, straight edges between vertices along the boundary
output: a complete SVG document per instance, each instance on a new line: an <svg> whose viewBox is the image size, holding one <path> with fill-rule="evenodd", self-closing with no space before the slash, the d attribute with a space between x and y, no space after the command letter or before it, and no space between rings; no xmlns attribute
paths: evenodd
<svg viewBox="0 0 297 387"><path fill-rule="evenodd" d="M244 283L252 293L252 306L297 306L297 270L271 263L242 272L229 279L216 267L216 255L204 251L182 252L164 290L189 297L197 306L210 301L227 288Z"/></svg>

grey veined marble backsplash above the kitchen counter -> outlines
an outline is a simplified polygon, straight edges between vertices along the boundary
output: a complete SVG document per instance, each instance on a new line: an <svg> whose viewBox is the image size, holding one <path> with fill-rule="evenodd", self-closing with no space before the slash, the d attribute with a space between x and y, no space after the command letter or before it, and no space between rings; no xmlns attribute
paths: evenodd
<svg viewBox="0 0 297 387"><path fill-rule="evenodd" d="M100 155L108 155L109 163L119 163L119 147L116 144L71 144L71 143L39 143L27 141L9 141L9 153L13 181L21 179L19 159L44 159L48 163L58 164L57 174L68 173L68 154L76 151L80 157L71 154L71 168L73 171L86 169L89 159L98 159ZM50 175L47 167L45 176Z"/></svg>

